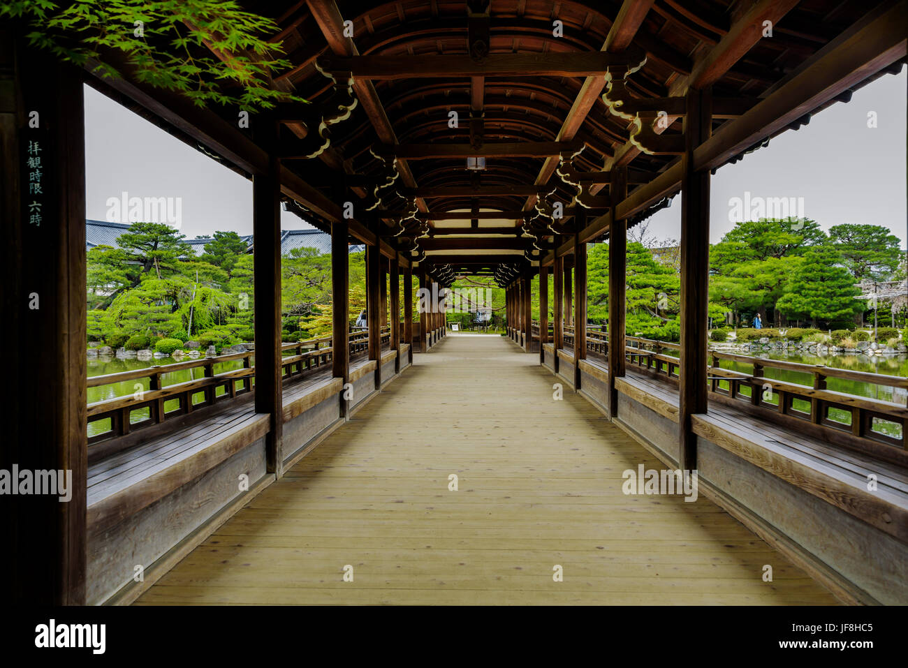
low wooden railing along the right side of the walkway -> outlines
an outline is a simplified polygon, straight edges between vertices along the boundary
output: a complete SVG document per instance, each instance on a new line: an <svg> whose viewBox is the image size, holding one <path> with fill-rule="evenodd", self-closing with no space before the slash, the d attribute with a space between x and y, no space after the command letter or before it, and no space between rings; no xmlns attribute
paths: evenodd
<svg viewBox="0 0 908 668"><path fill-rule="evenodd" d="M575 329L564 327L565 346L573 346ZM570 344L568 345L568 336ZM587 328L587 354L606 357L607 333ZM648 375L677 383L681 345L668 341L627 337L627 365ZM853 437L849 446L861 447L862 441L887 446L908 447L908 407L902 403L868 398L826 388L827 378L867 383L878 388L908 390L908 378L866 371L802 364L781 359L755 358L749 355L710 351L712 364L707 367L711 397L746 412L769 417L770 414L803 420L822 427L827 436L845 434ZM749 365L749 373L723 368L722 363ZM804 374L804 384L765 377L765 369L775 368ZM835 440L835 439L834 439ZM841 441L841 439L838 439ZM874 450L879 453L879 450Z"/></svg>

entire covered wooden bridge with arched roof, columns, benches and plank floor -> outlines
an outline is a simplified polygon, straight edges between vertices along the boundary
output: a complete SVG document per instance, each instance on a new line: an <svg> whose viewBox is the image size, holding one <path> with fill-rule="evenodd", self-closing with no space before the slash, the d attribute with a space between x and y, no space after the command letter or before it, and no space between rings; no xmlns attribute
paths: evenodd
<svg viewBox="0 0 908 668"><path fill-rule="evenodd" d="M706 345L711 173L898 72L905 2L241 4L280 28L271 85L311 101L249 129L0 40L5 334L34 384L8 400L4 467L73 472L67 503L3 499L15 597L908 603L908 408ZM176 385L86 381L83 81L252 178L254 351ZM629 338L627 229L678 192L680 345ZM281 344L281 201L331 233L330 339ZM585 326L602 240L607 331ZM448 334L444 300L412 312L414 275L494 276L508 337ZM142 391L86 404L123 380ZM697 471L699 496L627 493L638 467Z"/></svg>

